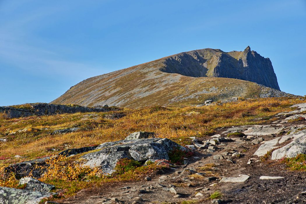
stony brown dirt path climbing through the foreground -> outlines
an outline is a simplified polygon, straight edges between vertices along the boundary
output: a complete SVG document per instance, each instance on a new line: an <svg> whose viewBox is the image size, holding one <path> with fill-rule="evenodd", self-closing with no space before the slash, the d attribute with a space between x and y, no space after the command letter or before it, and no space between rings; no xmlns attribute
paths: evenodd
<svg viewBox="0 0 306 204"><path fill-rule="evenodd" d="M288 131L288 127L295 125L306 125L306 123L297 121L283 124ZM226 129L228 128L218 131L222 134ZM260 135L265 141L276 136ZM206 139L211 138L199 138L201 143L204 143ZM260 145L245 138L241 138L241 141L238 139L234 142L220 142L217 145L218 149L196 150L188 165L169 169L167 172L154 176L150 181L107 184L102 188L82 190L72 198L61 199L57 202L212 203L209 196L215 191L220 191L223 195L220 200L215 200L215 203L306 203L306 173L288 171L277 161L259 160L253 154ZM243 156L228 156L233 152L242 153ZM215 159L215 155L223 155L225 158ZM231 160L226 159L227 157ZM251 158L254 160L248 164ZM219 183L223 177L237 177L240 174L250 177L243 183ZM260 180L260 176L284 178Z"/></svg>

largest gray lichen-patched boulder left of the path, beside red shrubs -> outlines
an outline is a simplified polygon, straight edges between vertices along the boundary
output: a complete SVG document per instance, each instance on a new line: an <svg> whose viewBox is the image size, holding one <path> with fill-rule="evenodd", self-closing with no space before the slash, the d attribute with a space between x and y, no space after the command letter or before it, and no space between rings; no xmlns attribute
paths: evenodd
<svg viewBox="0 0 306 204"><path fill-rule="evenodd" d="M142 162L148 159L169 160L168 153L174 148L188 151L166 138L133 139L103 143L96 148L99 151L84 154L81 158L85 159L84 166L101 167L104 173L110 174L114 172L117 161L121 158Z"/></svg>

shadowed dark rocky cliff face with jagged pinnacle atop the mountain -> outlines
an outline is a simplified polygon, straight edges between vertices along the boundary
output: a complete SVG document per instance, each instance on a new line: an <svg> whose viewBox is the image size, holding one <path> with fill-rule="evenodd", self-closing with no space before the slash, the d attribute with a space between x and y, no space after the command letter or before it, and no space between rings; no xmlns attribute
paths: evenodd
<svg viewBox="0 0 306 204"><path fill-rule="evenodd" d="M249 46L243 52L219 49L183 52L168 57L165 65L161 71L167 73L241 79L280 90L270 59L251 51Z"/></svg>

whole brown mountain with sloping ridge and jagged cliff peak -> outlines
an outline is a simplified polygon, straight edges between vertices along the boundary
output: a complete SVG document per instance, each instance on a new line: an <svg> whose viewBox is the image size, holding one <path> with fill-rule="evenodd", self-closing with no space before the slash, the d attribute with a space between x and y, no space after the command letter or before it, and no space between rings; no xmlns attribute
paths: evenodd
<svg viewBox="0 0 306 204"><path fill-rule="evenodd" d="M91 77L51 103L138 108L279 96L293 95L280 91L270 59L248 46L231 52L192 50Z"/></svg>

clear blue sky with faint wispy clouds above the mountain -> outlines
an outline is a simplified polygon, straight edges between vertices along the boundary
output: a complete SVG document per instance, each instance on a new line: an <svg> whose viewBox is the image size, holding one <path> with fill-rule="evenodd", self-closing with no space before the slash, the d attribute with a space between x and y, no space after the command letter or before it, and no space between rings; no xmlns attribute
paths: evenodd
<svg viewBox="0 0 306 204"><path fill-rule="evenodd" d="M306 1L0 0L0 106L183 51L251 46L306 95Z"/></svg>

